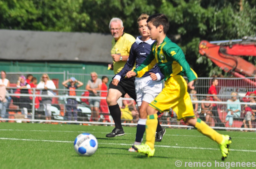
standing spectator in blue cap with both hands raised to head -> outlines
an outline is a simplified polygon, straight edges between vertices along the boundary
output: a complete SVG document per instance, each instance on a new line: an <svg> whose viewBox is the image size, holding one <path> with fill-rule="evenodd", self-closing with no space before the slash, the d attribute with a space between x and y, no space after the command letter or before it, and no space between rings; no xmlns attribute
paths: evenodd
<svg viewBox="0 0 256 169"><path fill-rule="evenodd" d="M70 85L67 84L68 82L70 82ZM76 85L76 83L78 83L78 85ZM84 83L76 80L76 78L74 78L74 77L71 77L70 79L63 81L62 85L65 86L69 90L68 95L76 96L76 89L83 86ZM67 108L67 114L68 114L69 121L71 120L72 109L73 109L74 120L77 121L77 103L78 102L76 101L76 98L68 98L68 100L67 100L66 108Z"/></svg>

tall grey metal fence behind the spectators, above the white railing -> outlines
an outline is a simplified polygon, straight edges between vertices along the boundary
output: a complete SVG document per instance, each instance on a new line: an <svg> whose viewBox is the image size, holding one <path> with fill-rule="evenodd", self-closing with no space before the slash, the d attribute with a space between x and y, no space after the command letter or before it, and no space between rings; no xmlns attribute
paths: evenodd
<svg viewBox="0 0 256 169"><path fill-rule="evenodd" d="M44 72L7 72L6 78L10 81L10 83L15 84L20 75L27 76L28 74L32 74L34 77L40 81L40 78ZM78 81L84 83L84 89L87 82L91 79L90 73L88 74L79 74L79 73L70 73L69 71L63 72L45 72L49 75L50 79L55 82L56 88L64 88L61 83L66 79L71 77L75 77ZM102 78L102 76L107 76L109 78L109 82L112 80L113 75L109 74L98 74L98 78ZM186 77L185 77L186 78ZM244 96L247 91L256 90L256 80L254 77L246 77L246 78L216 78L219 81L219 85L216 86L217 92L220 95L230 95L232 91L238 93L238 95ZM57 84L57 85L56 85ZM199 77L195 83L195 90L197 94L207 94L208 89L211 87L212 78L209 77Z"/></svg>

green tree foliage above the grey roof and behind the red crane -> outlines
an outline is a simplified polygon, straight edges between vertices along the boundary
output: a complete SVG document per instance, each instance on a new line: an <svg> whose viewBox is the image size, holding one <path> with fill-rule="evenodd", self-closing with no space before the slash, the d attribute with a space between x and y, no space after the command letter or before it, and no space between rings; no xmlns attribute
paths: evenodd
<svg viewBox="0 0 256 169"><path fill-rule="evenodd" d="M119 17L124 31L138 35L141 13L164 13L167 36L181 46L198 76L223 74L198 53L200 40L255 36L256 0L0 0L0 29L109 33ZM255 57L254 57L255 58ZM247 60L255 63L254 58Z"/></svg>

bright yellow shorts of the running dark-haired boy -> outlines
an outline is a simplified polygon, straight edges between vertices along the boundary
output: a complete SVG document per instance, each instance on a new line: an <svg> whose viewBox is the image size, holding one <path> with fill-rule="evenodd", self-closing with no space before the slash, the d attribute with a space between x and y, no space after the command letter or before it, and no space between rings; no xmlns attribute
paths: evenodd
<svg viewBox="0 0 256 169"><path fill-rule="evenodd" d="M170 108L177 114L177 120L188 117L195 118L193 105L188 94L188 85L181 75L170 77L164 83L164 88L149 106L164 112Z"/></svg>

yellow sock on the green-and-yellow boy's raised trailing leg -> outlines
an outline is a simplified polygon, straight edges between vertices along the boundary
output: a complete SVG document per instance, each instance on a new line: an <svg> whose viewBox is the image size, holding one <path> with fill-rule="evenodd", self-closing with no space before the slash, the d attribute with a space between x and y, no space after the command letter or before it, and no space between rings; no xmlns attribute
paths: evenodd
<svg viewBox="0 0 256 169"><path fill-rule="evenodd" d="M218 133L217 131L213 130L211 127L209 127L204 121L202 121L200 118L196 121L196 129L203 135L211 138L212 140L216 141L218 144L222 141L222 135Z"/></svg>

